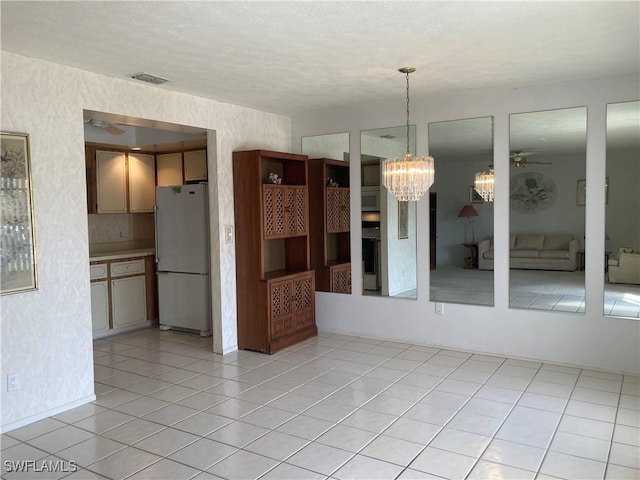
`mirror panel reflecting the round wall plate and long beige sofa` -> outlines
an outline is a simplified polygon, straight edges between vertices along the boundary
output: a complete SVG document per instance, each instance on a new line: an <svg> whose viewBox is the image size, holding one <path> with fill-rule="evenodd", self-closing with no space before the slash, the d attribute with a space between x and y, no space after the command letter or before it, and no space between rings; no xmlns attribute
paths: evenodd
<svg viewBox="0 0 640 480"><path fill-rule="evenodd" d="M509 123L509 305L584 313L587 109Z"/></svg>

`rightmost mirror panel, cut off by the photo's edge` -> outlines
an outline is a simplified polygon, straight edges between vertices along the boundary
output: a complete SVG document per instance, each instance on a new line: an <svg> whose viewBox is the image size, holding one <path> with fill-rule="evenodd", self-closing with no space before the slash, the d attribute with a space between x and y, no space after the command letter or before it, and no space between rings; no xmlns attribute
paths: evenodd
<svg viewBox="0 0 640 480"><path fill-rule="evenodd" d="M607 105L604 314L640 319L640 102Z"/></svg>

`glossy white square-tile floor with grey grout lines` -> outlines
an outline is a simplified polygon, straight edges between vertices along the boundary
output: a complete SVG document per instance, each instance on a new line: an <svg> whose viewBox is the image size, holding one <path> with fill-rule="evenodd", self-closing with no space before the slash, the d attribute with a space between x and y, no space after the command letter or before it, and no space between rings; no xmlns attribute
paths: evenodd
<svg viewBox="0 0 640 480"><path fill-rule="evenodd" d="M97 400L2 435L2 478L640 478L635 376L332 334L210 345L95 341Z"/></svg>

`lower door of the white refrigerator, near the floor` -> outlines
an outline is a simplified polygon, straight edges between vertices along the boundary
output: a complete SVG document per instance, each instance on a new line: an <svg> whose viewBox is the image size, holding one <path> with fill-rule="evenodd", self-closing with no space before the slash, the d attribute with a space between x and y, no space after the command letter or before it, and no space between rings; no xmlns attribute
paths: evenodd
<svg viewBox="0 0 640 480"><path fill-rule="evenodd" d="M160 325L211 332L209 275L158 272Z"/></svg>

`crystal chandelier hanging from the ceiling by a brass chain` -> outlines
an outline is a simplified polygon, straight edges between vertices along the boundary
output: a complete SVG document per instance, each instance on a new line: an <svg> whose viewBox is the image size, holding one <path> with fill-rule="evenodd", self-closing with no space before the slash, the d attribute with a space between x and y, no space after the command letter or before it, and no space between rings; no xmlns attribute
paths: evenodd
<svg viewBox="0 0 640 480"><path fill-rule="evenodd" d="M382 183L401 202L419 200L433 185L433 157L414 157L409 150L409 74L414 67L398 70L407 77L407 153L403 158L387 158L382 162Z"/></svg>

